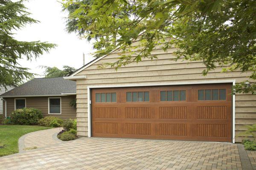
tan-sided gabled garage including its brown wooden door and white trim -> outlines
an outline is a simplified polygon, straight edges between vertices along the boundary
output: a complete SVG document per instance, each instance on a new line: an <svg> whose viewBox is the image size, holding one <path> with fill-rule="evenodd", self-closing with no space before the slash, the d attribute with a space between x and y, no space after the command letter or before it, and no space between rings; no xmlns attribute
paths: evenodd
<svg viewBox="0 0 256 170"><path fill-rule="evenodd" d="M170 60L175 50L156 48L157 59L99 69L117 60L117 48L64 77L76 81L78 135L241 142L244 125L256 123L256 95L235 96L231 88L252 81L250 72L217 67L203 76L203 62Z"/></svg>

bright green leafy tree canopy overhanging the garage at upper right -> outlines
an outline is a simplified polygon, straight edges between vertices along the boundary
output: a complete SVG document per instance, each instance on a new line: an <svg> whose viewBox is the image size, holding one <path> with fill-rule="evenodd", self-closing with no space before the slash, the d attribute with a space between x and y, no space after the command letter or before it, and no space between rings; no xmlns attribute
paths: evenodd
<svg viewBox="0 0 256 170"><path fill-rule="evenodd" d="M223 71L249 71L254 82L240 83L236 92L256 92L256 1L255 0L63 0L70 13L67 30L87 40L94 39L96 57L119 46L119 68L142 58L153 59L151 51L175 45L176 59L201 60L203 74L217 66ZM143 32L143 34L141 34ZM166 39L170 37L170 39ZM137 40L135 57L132 40ZM136 48L136 47L135 47ZM130 52L130 53L127 53Z"/></svg>

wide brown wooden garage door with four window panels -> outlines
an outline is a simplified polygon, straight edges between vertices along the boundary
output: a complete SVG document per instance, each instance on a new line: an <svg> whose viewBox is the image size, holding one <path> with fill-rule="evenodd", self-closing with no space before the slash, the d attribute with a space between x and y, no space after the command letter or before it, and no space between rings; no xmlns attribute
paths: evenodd
<svg viewBox="0 0 256 170"><path fill-rule="evenodd" d="M92 89L92 136L231 142L231 86Z"/></svg>

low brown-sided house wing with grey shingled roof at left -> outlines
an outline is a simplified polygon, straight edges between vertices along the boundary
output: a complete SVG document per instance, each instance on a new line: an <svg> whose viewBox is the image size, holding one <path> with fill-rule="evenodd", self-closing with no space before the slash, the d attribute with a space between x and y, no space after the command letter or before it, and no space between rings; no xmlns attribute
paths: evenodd
<svg viewBox="0 0 256 170"><path fill-rule="evenodd" d="M41 110L43 116L76 118L76 108L70 105L76 99L76 82L63 77L35 78L0 97L6 117L16 109L26 107Z"/></svg>

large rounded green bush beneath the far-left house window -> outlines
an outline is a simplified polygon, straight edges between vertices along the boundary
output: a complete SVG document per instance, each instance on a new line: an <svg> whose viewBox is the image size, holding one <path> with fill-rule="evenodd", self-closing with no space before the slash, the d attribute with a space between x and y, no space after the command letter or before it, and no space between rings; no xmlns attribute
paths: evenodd
<svg viewBox="0 0 256 170"><path fill-rule="evenodd" d="M38 125L42 118L42 112L35 108L16 109L10 116L11 122L16 125Z"/></svg>

